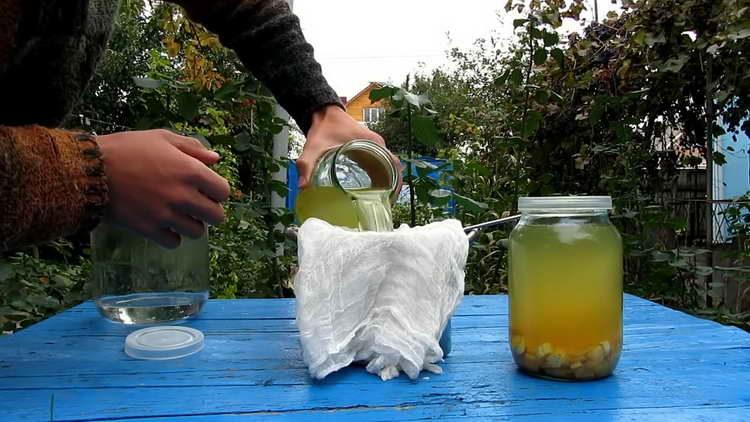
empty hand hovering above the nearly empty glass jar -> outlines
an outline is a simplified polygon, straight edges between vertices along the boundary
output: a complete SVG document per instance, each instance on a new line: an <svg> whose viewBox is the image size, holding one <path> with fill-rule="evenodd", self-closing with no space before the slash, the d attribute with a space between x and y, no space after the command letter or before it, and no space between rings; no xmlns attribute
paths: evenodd
<svg viewBox="0 0 750 422"><path fill-rule="evenodd" d="M167 248L198 238L224 219L229 184L208 165L219 160L196 139L166 130L96 139L110 191L106 219Z"/></svg>

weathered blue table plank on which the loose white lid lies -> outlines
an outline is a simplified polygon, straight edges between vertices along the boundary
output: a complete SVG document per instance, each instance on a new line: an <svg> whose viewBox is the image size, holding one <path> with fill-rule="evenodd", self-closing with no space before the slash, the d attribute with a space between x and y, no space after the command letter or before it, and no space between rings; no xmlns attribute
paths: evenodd
<svg viewBox="0 0 750 422"><path fill-rule="evenodd" d="M640 325L626 327L625 354L649 359L661 355L704 356L711 351L714 356L721 350L747 351L750 336L729 327L715 324L691 327L663 326L642 329ZM670 341L669 353L661 350ZM207 334L206 348L198 355L171 362L136 361L123 351L123 337L91 335L87 337L62 337L57 339L25 338L23 341L4 342L0 347L0 386L9 376L91 372L111 368L123 371L172 372L186 368L207 370L234 368L300 367L301 352L296 334L289 333L232 333ZM457 329L454 332L455 349L452 362L475 362L487 359L510 359L507 336L500 328ZM96 353L88 351L95 350ZM734 353L734 352L732 352ZM740 354L741 356L741 354ZM455 358L455 359L453 359ZM51 372L50 372L51 371Z"/></svg>

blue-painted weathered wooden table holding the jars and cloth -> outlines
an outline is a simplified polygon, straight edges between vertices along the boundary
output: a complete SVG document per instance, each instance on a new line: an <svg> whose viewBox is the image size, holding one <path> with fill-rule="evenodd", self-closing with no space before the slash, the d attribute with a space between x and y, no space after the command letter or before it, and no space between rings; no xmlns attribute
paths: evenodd
<svg viewBox="0 0 750 422"><path fill-rule="evenodd" d="M92 303L0 338L0 421L750 420L750 334L631 296L616 374L588 383L516 371L505 296L465 298L445 372L416 381L312 381L291 300L211 301L185 324L205 349L161 362L127 357L132 329Z"/></svg>

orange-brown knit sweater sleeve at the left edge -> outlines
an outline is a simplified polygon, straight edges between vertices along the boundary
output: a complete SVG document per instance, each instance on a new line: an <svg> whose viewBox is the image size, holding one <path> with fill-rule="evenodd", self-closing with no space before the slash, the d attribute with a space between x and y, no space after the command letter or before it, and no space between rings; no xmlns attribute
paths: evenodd
<svg viewBox="0 0 750 422"><path fill-rule="evenodd" d="M93 137L0 126L0 251L90 230L107 204Z"/></svg>

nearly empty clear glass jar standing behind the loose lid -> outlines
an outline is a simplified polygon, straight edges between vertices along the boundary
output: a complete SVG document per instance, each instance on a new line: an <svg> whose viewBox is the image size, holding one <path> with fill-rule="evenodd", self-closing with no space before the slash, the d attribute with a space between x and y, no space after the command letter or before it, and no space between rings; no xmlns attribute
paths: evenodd
<svg viewBox="0 0 750 422"><path fill-rule="evenodd" d="M91 287L99 312L124 324L176 321L208 299L208 237L183 237L162 248L137 234L101 224L91 236Z"/></svg>

